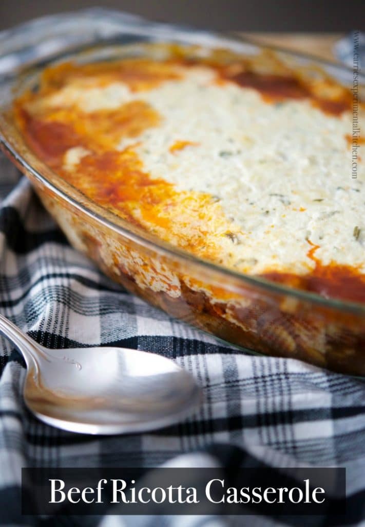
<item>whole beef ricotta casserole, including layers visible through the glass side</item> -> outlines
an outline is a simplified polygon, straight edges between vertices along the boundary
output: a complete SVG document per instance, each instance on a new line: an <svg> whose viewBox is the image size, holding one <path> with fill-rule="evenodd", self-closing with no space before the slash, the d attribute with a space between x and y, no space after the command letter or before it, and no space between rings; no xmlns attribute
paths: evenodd
<svg viewBox="0 0 365 527"><path fill-rule="evenodd" d="M361 306L365 169L353 92L273 52L148 46L44 70L13 105L37 159L108 213L236 277ZM362 111L357 103L360 129ZM313 309L276 285L225 287L40 197L76 247L170 314L257 352L365 373L363 317L341 317L331 302Z"/></svg>

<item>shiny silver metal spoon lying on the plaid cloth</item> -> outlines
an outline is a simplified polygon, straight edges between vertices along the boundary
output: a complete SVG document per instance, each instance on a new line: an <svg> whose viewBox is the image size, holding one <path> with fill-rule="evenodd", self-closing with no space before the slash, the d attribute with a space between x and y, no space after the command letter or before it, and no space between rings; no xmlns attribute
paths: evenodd
<svg viewBox="0 0 365 527"><path fill-rule="evenodd" d="M142 432L180 421L201 401L194 378L165 357L126 348L47 349L2 315L0 333L25 359L25 404L49 425Z"/></svg>

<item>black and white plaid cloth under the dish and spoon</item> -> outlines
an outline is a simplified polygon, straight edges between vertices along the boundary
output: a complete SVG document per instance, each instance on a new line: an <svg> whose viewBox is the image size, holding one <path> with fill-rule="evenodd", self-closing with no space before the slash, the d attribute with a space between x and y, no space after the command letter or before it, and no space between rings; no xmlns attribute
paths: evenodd
<svg viewBox="0 0 365 527"><path fill-rule="evenodd" d="M102 16L103 14L103 16ZM110 35L145 22L87 11L79 17ZM42 55L35 31L76 24L76 15L50 17L0 34L0 70ZM58 25L54 25L55 23ZM123 25L124 24L124 25ZM77 25L77 24L76 24ZM51 28L53 30L51 31ZM161 26L159 31L166 31ZM83 33L83 32L81 32ZM83 33L84 34L84 33ZM206 36L206 38L208 38ZM18 39L18 40L17 40ZM32 51L24 46L32 44ZM8 54L12 40L16 57ZM51 46L51 47L52 47ZM58 47L57 47L58 46ZM49 49L49 48L48 48ZM0 53L1 54L1 53ZM25 58L24 58L25 57ZM22 467L340 466L347 470L345 519L300 519L300 525L359 525L365 520L365 383L297 360L251 356L181 323L130 295L73 250L38 202L31 186L0 157L0 309L49 348L116 345L150 350L176 360L198 379L205 402L175 426L151 433L89 436L47 426L25 408L25 364L5 339L0 347L0 522L5 525L100 527L295 524L281 518L171 518L118 516L35 518L20 513ZM230 461L229 461L230 460ZM232 461L233 460L233 461ZM331 523L332 522L332 523ZM298 524L298 523L297 523Z"/></svg>

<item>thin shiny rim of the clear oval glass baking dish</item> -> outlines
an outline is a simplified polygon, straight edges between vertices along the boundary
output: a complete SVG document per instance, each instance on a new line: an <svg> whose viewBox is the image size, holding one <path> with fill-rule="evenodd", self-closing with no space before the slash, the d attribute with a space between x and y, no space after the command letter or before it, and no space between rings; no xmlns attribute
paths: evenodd
<svg viewBox="0 0 365 527"><path fill-rule="evenodd" d="M249 40L249 38L241 37L239 35L233 35L232 34L224 34L224 33L215 33L217 37L222 37L222 40L227 43L227 37L228 40L231 40L232 42L236 43L242 43L247 44L253 48L256 48L257 50L271 50L273 52L278 52L282 54L286 54L292 58L299 58L299 59L305 59L309 61L314 61L317 64L328 66L330 69L338 70L339 72L345 73L346 75L349 75L352 73L352 70L348 66L344 66L341 64L337 64L336 62L331 62L327 60L323 60L321 58L317 58L313 55L307 55L306 53L301 52L293 52L290 50L283 49L278 46L270 46L270 45L260 45L257 43L254 43ZM47 56L46 58L40 58L37 61L34 61L30 64L27 64L25 67L20 68L18 71L15 72L15 74L12 74L11 77L23 77L26 74L34 72L35 69L43 69L47 64L54 63L56 61L64 60L67 56L71 55L80 55L82 53L87 54L90 50L96 50L104 46L110 46L110 45L117 45L127 47L130 45L148 45L148 44L156 44L158 41L151 41L148 40L148 38L144 38L143 35L140 35L138 38L136 35L136 40L131 42L125 42L123 43L123 40L121 41L121 38L123 39L123 34L119 37L111 37L111 38L101 38L96 42L93 43L84 43L82 45L76 45L71 48L65 48L65 50L60 51L54 55ZM168 38L166 41L160 41L163 44L168 44L169 42L174 42L173 39ZM176 41L175 41L176 42ZM191 42L181 42L181 40L178 40L177 42L180 42L182 45L191 45ZM8 80L8 76L7 76ZM359 81L364 83L365 85L365 75L359 74ZM360 84L359 82L359 84ZM0 101L1 104L1 101ZM0 114L1 114L1 106L0 106ZM0 115L1 116L1 115ZM1 116L1 119L2 116ZM1 122L0 122L1 124ZM215 264L212 261L209 261L207 259L200 258L193 253L190 253L184 249L181 249L179 247L176 247L172 245L169 242L166 242L164 240L159 239L157 236L153 235L152 233L149 233L148 231L144 231L141 228L134 227L136 232L133 230L130 230L130 223L115 214L111 213L110 211L104 209L103 207L99 206L97 203L93 202L91 199L89 199L87 196L85 196L82 192L80 192L76 187L73 187L66 181L63 181L62 186L57 186L57 184L54 181L51 181L47 178L46 174L52 173L53 180L62 180L62 178L59 177L59 175L54 172L52 169L50 169L43 161L39 160L37 158L37 164L42 165L42 172L35 168L31 163L29 163L24 157L21 152L19 152L16 148L13 147L11 142L8 141L6 134L4 134L1 130L0 126L0 147L3 149L5 154L8 155L8 157L15 162L17 165L21 165L26 172L29 172L33 175L33 177L42 183L46 188L48 188L50 191L57 194L58 197L65 200L67 203L72 205L73 207L76 207L76 209L81 210L82 212L86 213L87 216L93 218L98 223L104 224L106 227L110 228L111 230L114 230L119 235L124 236L128 238L129 240L135 241L138 243L138 245L147 246L149 249L154 250L155 252L158 252L159 254L163 254L164 256L173 257L178 260L184 261L185 264L195 264L202 270L207 269L209 271L215 272L216 274L224 274L227 278L231 277L234 279L235 284L237 282L243 282L243 285L248 285L251 287L259 288L260 290L271 292L271 294L276 295L286 295L286 296L292 296L295 297L301 301L304 302L312 302L316 305L330 308L330 309L338 309L341 311L346 311L347 313L354 314L354 315L365 315L365 304L362 302L354 302L351 300L346 299L340 299L340 298L326 298L323 297L315 292L310 292L303 289L298 289L294 287L287 286L285 284L281 284L280 282L274 282L272 280L268 280L266 278L255 276L255 275L248 275L242 272L235 271L233 269L229 269L227 267L224 267L219 264ZM28 153L31 154L32 157L36 157L35 154L31 151L31 149L25 147ZM61 187L68 187L69 193L67 193L63 188ZM77 197L79 199L77 199ZM113 220L115 218L115 220ZM129 227L129 228L128 228ZM225 284L226 287L226 284ZM235 286L236 287L236 286Z"/></svg>

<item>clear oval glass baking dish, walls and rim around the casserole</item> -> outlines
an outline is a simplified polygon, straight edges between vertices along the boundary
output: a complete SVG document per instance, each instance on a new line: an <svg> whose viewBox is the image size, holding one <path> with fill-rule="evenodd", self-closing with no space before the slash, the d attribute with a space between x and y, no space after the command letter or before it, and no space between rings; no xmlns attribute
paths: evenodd
<svg viewBox="0 0 365 527"><path fill-rule="evenodd" d="M189 34L190 43L191 39ZM224 46L229 47L229 42L235 51L251 56L262 51L239 40L224 40ZM189 53L202 54L199 47L191 50ZM45 65L64 60L108 62L161 53L163 46L149 43L103 43L53 57L46 64L43 61L9 76L1 90L0 142L4 152L31 180L70 243L127 290L169 315L250 352L365 375L365 304L324 298L236 272L170 245L89 199L26 144L14 120L12 102L25 90L37 89ZM313 63L283 52L280 60L294 65ZM351 81L352 72L331 64L326 67L331 75ZM318 71L317 63L313 72L318 75Z"/></svg>

